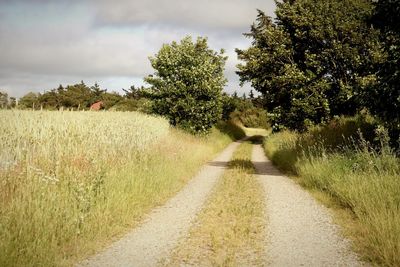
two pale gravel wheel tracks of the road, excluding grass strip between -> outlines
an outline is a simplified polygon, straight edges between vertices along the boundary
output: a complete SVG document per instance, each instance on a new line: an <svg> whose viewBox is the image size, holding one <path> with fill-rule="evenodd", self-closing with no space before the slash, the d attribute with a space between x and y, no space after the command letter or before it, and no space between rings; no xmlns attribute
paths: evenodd
<svg viewBox="0 0 400 267"><path fill-rule="evenodd" d="M156 266L188 234L196 214L227 167L239 142L201 169L141 226L79 266ZM329 212L283 176L254 145L252 162L265 192L266 266L364 266L340 236Z"/></svg>

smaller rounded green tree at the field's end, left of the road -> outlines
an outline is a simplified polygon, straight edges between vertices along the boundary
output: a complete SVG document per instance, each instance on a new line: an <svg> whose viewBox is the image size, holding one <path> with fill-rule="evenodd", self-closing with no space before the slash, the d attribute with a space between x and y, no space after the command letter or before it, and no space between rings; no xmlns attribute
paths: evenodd
<svg viewBox="0 0 400 267"><path fill-rule="evenodd" d="M153 87L154 111L189 132L207 132L222 114L223 53L210 49L202 37L164 44L150 57L154 75L145 78Z"/></svg>

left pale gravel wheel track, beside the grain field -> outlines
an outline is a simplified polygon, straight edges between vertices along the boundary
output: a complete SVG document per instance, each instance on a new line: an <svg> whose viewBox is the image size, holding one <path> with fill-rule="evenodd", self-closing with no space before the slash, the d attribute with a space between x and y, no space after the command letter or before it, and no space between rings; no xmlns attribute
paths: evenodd
<svg viewBox="0 0 400 267"><path fill-rule="evenodd" d="M156 266L160 259L168 257L187 234L238 145L239 142L229 145L175 197L153 210L141 226L78 266Z"/></svg>

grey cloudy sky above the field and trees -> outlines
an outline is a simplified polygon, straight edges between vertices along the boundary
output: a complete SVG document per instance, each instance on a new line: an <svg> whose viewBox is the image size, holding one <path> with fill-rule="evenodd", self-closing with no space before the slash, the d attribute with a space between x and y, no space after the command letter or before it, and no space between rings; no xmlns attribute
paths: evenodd
<svg viewBox="0 0 400 267"><path fill-rule="evenodd" d="M146 85L149 56L187 35L225 49L225 91L248 93L235 74L257 9L274 0L0 0L0 90L21 97L59 84L97 82L122 92Z"/></svg>

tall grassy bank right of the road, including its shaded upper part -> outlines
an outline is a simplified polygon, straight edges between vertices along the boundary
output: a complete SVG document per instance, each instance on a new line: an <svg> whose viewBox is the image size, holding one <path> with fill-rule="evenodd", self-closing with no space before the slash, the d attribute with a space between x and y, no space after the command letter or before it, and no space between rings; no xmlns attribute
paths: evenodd
<svg viewBox="0 0 400 267"><path fill-rule="evenodd" d="M264 143L266 154L334 207L345 234L366 260L399 266L400 160L385 137L379 152L363 138L343 138L356 134L354 124L354 119L342 119L306 134L272 135Z"/></svg>

